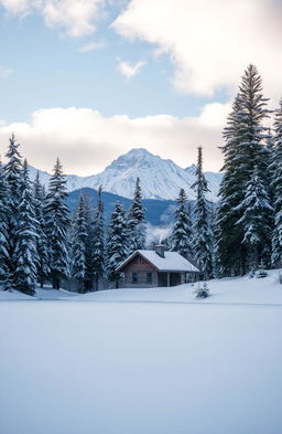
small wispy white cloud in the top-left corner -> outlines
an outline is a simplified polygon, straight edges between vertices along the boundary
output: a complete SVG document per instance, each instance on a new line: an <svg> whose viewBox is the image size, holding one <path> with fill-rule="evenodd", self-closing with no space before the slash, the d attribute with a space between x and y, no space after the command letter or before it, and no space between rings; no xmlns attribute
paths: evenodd
<svg viewBox="0 0 282 434"><path fill-rule="evenodd" d="M47 27L64 30L68 36L91 34L106 0L0 0L9 13L25 17L41 14Z"/></svg>

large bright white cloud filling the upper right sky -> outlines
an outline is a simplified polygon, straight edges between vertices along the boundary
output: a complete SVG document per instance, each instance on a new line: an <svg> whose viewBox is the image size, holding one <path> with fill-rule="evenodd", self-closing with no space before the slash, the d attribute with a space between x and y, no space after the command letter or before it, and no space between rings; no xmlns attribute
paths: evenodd
<svg viewBox="0 0 282 434"><path fill-rule="evenodd" d="M253 63L267 95L280 97L281 22L278 0L130 0L112 27L167 54L181 93L234 92L238 77Z"/></svg>

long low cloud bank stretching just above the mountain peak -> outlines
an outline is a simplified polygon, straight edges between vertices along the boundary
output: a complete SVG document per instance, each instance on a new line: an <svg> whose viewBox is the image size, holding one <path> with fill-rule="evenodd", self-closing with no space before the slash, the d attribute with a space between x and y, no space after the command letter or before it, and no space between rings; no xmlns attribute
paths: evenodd
<svg viewBox="0 0 282 434"><path fill-rule="evenodd" d="M182 119L169 115L105 117L76 107L41 109L29 123L0 124L0 154L6 154L8 138L14 133L31 165L50 171L58 156L68 173L86 176L102 171L115 158L139 147L187 167L196 162L196 148L202 145L205 170L219 170L217 146L229 108L208 104L198 117Z"/></svg>

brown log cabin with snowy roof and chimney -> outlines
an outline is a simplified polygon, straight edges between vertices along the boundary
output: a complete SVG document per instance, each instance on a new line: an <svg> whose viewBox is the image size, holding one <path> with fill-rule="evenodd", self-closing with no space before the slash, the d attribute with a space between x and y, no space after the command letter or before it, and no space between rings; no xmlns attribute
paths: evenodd
<svg viewBox="0 0 282 434"><path fill-rule="evenodd" d="M189 261L176 252L165 252L164 245L154 250L140 250L132 253L117 272L123 274L120 287L153 288L156 286L176 286L195 282L199 271Z"/></svg>

